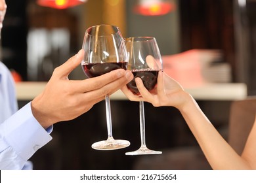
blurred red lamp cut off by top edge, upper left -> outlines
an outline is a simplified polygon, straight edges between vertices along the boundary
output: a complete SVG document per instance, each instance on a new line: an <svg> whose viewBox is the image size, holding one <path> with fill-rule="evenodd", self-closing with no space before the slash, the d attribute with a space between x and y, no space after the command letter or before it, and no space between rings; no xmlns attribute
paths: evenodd
<svg viewBox="0 0 256 183"><path fill-rule="evenodd" d="M87 0L37 0L37 4L43 7L64 9L80 5L85 1Z"/></svg>

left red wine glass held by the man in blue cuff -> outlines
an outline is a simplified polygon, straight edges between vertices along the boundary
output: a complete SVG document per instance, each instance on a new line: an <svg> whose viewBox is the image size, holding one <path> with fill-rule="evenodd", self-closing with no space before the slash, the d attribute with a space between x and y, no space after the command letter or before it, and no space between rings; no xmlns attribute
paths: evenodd
<svg viewBox="0 0 256 183"><path fill-rule="evenodd" d="M115 69L126 69L127 52L119 28L114 25L95 25L85 31L83 39L85 55L81 66L88 78L104 75ZM109 95L106 101L106 122L108 139L95 142L92 148L96 150L114 150L130 145L129 141L116 140L112 136L112 118Z"/></svg>

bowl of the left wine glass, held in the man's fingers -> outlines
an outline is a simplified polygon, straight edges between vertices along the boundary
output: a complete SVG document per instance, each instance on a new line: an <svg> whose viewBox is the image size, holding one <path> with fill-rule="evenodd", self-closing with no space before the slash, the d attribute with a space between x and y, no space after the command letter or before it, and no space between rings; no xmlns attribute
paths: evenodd
<svg viewBox="0 0 256 183"><path fill-rule="evenodd" d="M123 37L114 25L89 27L85 31L82 47L85 54L81 65L88 78L127 67Z"/></svg>

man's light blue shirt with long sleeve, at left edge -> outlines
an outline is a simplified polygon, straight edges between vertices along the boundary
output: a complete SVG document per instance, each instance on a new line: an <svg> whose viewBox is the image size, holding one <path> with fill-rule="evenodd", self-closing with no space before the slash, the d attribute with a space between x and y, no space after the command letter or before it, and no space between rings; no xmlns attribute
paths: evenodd
<svg viewBox="0 0 256 183"><path fill-rule="evenodd" d="M53 126L43 129L33 117L31 103L17 110L14 80L0 61L0 169L32 169L27 160L52 139Z"/></svg>

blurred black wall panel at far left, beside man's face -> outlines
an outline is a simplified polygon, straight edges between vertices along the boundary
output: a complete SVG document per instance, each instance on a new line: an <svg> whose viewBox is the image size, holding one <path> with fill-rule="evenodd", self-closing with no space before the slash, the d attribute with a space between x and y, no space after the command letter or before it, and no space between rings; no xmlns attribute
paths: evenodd
<svg viewBox="0 0 256 183"><path fill-rule="evenodd" d="M27 43L28 21L26 0L7 1L7 14L1 32L1 61L9 69L14 69L27 80Z"/></svg>

